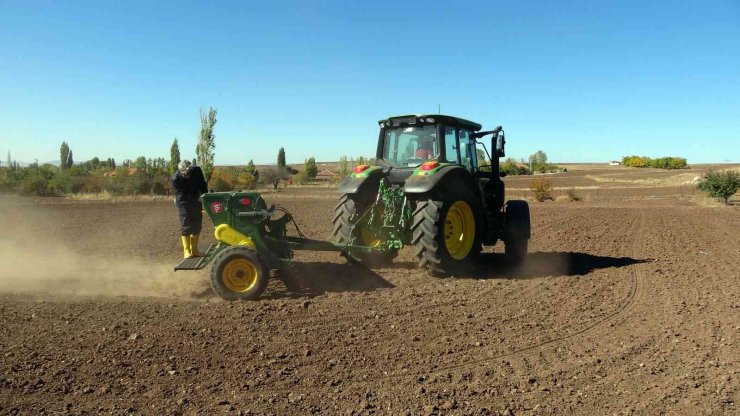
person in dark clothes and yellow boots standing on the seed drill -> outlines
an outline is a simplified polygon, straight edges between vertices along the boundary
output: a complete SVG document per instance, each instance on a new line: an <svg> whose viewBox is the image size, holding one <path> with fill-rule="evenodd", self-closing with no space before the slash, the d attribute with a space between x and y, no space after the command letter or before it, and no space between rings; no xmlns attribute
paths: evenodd
<svg viewBox="0 0 740 416"><path fill-rule="evenodd" d="M183 256L202 257L198 250L198 237L203 225L201 195L208 192L208 184L200 166L183 160L172 176L172 187L175 188L175 205L180 215L180 231Z"/></svg>

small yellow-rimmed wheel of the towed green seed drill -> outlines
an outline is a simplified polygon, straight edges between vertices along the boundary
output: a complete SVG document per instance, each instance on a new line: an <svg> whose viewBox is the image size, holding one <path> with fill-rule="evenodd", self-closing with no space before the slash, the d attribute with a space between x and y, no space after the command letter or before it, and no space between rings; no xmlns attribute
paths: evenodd
<svg viewBox="0 0 740 416"><path fill-rule="evenodd" d="M258 298L269 278L270 271L257 252L247 247L229 247L213 260L211 287L226 300Z"/></svg>

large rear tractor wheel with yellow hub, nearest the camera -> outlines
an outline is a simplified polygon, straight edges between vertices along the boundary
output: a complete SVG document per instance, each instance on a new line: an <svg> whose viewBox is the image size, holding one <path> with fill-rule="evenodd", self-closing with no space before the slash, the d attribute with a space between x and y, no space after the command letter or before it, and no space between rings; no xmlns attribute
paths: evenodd
<svg viewBox="0 0 740 416"><path fill-rule="evenodd" d="M449 274L471 266L481 250L480 204L466 190L417 201L411 226L419 267Z"/></svg>

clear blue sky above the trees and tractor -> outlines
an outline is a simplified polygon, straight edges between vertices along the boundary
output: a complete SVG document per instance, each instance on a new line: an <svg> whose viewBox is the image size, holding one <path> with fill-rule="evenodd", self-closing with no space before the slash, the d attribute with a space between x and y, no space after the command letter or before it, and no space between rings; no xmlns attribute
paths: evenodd
<svg viewBox="0 0 740 416"><path fill-rule="evenodd" d="M0 159L373 155L378 119L502 124L508 155L740 161L740 3L0 0Z"/></svg>

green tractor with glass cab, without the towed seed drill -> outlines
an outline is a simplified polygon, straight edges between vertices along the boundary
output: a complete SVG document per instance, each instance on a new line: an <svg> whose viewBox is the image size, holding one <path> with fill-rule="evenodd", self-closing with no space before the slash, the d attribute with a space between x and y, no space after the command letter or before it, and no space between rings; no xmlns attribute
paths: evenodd
<svg viewBox="0 0 740 416"><path fill-rule="evenodd" d="M370 265L391 262L412 246L419 266L435 274L469 268L484 245L501 240L511 263L530 238L529 205L504 198L499 158L504 131L444 115L380 120L373 166L360 165L338 186L334 238ZM491 136L488 148L480 139Z"/></svg>

